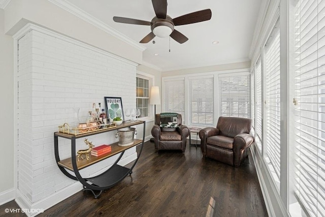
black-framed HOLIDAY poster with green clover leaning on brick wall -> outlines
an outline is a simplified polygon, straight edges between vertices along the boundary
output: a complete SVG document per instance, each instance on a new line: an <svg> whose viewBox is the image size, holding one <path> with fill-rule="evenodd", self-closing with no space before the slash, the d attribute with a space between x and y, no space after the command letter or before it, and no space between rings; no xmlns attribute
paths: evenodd
<svg viewBox="0 0 325 217"><path fill-rule="evenodd" d="M104 97L107 117L114 119L120 117L124 120L122 98L120 97Z"/></svg>

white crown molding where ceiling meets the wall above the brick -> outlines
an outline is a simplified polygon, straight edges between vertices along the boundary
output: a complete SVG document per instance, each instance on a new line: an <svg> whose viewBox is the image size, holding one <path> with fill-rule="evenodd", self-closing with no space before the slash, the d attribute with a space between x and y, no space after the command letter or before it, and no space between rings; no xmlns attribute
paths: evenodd
<svg viewBox="0 0 325 217"><path fill-rule="evenodd" d="M0 1L2 1L2 0L0 0ZM145 49L147 49L145 46L140 45L138 42L135 42L134 40L128 38L127 36L123 35L122 33L118 32L117 30L113 29L106 23L91 16L87 12L81 10L80 8L76 7L75 5L71 4L70 2L68 2L66 0L48 0L48 1L64 10L66 10L66 11L70 12L71 14L85 20L86 22L104 30L104 32L120 39L121 41L139 49L140 51L144 51Z"/></svg>

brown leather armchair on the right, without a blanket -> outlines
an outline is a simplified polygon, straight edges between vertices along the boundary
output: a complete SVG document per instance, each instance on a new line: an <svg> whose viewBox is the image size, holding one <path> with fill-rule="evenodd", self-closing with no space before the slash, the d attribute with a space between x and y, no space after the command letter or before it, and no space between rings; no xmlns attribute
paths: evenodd
<svg viewBox="0 0 325 217"><path fill-rule="evenodd" d="M240 166L254 141L250 128L249 118L219 117L216 128L208 127L199 132L203 156Z"/></svg>

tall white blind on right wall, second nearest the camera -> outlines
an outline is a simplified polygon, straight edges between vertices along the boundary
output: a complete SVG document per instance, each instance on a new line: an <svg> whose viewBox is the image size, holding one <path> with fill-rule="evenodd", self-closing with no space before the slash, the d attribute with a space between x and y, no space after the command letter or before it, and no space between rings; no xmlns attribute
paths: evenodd
<svg viewBox="0 0 325 217"><path fill-rule="evenodd" d="M266 159L270 162L275 181L280 178L280 30L273 29L265 46L266 81Z"/></svg>

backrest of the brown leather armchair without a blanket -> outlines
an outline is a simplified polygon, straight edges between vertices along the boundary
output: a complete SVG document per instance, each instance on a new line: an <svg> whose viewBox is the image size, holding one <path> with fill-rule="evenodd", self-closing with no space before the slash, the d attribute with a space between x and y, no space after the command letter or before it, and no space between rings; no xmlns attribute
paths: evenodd
<svg viewBox="0 0 325 217"><path fill-rule="evenodd" d="M244 117L223 117L220 116L217 123L220 136L234 138L241 133L249 133L251 128L251 119Z"/></svg>

